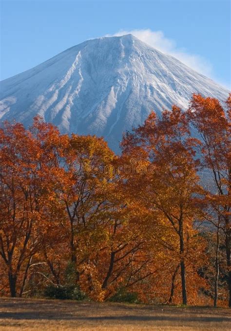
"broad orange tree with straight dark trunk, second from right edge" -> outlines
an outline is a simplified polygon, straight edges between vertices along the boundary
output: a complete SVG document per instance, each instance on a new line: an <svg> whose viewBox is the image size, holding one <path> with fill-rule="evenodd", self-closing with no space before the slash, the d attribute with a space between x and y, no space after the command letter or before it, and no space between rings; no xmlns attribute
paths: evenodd
<svg viewBox="0 0 231 331"><path fill-rule="evenodd" d="M176 106L165 110L161 119L152 112L144 125L127 133L122 141L122 157L134 169L125 172L127 185L153 212L157 223L162 222L158 236L172 251L175 268L180 266L183 304L188 302L187 265L192 265L195 256L193 223L200 217L194 144L186 115Z"/></svg>

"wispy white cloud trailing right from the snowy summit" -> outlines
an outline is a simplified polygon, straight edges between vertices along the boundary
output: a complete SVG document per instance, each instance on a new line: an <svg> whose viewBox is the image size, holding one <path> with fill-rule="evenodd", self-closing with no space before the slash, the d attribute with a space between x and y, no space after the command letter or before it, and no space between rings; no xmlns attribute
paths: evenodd
<svg viewBox="0 0 231 331"><path fill-rule="evenodd" d="M169 54L183 62L188 67L204 74L207 77L212 77L212 65L209 61L197 54L190 54L185 49L178 48L174 40L167 38L162 31L152 31L150 29L118 31L114 35L120 36L132 34L143 42L153 46L160 52Z"/></svg>

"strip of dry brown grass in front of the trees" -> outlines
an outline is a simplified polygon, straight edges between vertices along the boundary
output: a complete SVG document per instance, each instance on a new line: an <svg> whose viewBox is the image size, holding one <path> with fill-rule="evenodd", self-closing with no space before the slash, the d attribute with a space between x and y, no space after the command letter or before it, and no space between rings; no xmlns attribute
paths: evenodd
<svg viewBox="0 0 231 331"><path fill-rule="evenodd" d="M231 310L0 298L0 331L231 330Z"/></svg>

